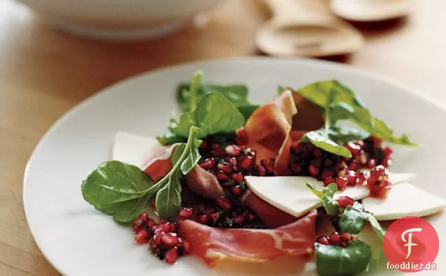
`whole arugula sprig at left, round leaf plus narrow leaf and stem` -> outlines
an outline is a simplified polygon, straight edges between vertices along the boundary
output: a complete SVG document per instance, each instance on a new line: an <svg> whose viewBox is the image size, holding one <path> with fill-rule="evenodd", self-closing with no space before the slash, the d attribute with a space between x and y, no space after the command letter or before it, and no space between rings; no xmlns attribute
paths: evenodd
<svg viewBox="0 0 446 276"><path fill-rule="evenodd" d="M153 184L147 173L137 166L110 161L101 164L83 181L83 198L95 209L113 216L115 221L128 222L136 218L156 195L156 207L164 219L175 216L181 206L182 174L188 173L200 159L199 129L192 126L186 144L177 147L172 157L173 168Z"/></svg>

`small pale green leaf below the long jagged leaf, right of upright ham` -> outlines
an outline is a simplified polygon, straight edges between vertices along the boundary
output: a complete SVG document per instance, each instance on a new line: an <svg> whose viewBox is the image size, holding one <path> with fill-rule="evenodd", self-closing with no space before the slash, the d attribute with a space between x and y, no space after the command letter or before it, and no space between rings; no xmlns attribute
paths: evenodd
<svg viewBox="0 0 446 276"><path fill-rule="evenodd" d="M351 152L346 147L337 144L331 140L324 129L317 131L309 131L301 138L302 142L311 142L316 147L319 147L327 152L331 152L334 155L351 158Z"/></svg>

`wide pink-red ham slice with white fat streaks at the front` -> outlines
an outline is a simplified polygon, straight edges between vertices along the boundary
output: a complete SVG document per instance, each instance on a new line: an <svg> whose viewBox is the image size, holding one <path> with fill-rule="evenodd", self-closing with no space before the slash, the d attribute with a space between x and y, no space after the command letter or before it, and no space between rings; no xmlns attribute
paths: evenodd
<svg viewBox="0 0 446 276"><path fill-rule="evenodd" d="M295 223L271 230L219 229L190 220L178 222L178 233L191 244L191 254L213 266L224 258L265 262L283 256L311 256L317 211Z"/></svg>

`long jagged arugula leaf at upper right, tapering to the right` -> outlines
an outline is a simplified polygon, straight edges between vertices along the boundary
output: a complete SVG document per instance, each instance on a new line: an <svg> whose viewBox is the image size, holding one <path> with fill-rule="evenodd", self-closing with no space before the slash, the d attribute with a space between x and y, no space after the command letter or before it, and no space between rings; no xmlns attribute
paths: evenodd
<svg viewBox="0 0 446 276"><path fill-rule="evenodd" d="M370 135L378 136L388 142L416 145L404 133L400 137L395 136L384 121L373 117L355 93L339 81L317 81L304 86L297 93L321 108L325 109L329 105L332 123L348 119Z"/></svg>

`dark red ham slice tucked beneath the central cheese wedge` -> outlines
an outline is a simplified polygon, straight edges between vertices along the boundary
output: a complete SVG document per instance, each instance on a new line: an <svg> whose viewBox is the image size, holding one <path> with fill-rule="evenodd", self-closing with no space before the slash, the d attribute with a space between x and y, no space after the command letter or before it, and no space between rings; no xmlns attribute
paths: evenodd
<svg viewBox="0 0 446 276"><path fill-rule="evenodd" d="M269 228L277 228L294 223L299 219L269 204L250 190L247 190L242 195L241 202L262 219Z"/></svg>

